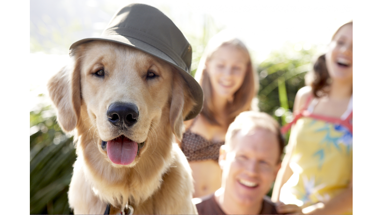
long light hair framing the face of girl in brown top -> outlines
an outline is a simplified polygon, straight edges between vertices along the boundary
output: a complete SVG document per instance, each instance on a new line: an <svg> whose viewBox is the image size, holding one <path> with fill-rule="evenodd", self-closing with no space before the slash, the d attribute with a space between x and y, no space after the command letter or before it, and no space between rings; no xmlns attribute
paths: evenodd
<svg viewBox="0 0 382 215"><path fill-rule="evenodd" d="M220 32L209 40L195 73L195 79L200 84L204 92L204 104L200 114L203 115L209 123L215 125L220 124L217 122L214 116L214 107L212 104L212 86L206 71L205 64L210 60L211 56L218 48L228 45L234 46L246 53L249 61L247 64L247 70L243 84L234 94L233 102L226 107L227 118L224 121L229 124L235 119L237 115L239 115L239 113L243 111L251 109L258 110L257 99L255 97L257 97L259 90L259 78L255 69L253 68L248 49L238 38L231 36L227 32Z"/></svg>

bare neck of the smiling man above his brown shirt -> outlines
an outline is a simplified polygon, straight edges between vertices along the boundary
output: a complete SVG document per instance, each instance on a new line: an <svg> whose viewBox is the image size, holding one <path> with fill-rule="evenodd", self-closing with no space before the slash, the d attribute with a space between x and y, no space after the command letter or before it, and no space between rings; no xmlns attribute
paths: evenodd
<svg viewBox="0 0 382 215"><path fill-rule="evenodd" d="M243 206L239 202L235 201L231 195L224 192L224 188L220 188L215 192L214 198L221 208L221 210L229 214L260 214L263 206L263 198L255 204L251 204L250 207Z"/></svg>

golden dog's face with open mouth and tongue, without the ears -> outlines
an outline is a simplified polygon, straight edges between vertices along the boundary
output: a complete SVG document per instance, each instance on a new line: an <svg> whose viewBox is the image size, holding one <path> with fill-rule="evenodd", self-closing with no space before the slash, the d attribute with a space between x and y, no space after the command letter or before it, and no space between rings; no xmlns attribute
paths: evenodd
<svg viewBox="0 0 382 215"><path fill-rule="evenodd" d="M82 59L81 89L102 153L130 164L144 149L171 99L172 67L127 46L90 44ZM102 142L103 141L103 142Z"/></svg>

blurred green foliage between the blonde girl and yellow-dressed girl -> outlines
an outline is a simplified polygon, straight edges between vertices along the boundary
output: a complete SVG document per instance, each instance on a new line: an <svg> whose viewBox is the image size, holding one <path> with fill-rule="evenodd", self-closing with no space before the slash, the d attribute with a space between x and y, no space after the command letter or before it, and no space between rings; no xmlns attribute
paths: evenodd
<svg viewBox="0 0 382 215"><path fill-rule="evenodd" d="M312 69L311 59L315 54L309 50L290 51L289 44L271 53L269 58L258 66L260 91L258 94L261 111L273 115L281 125L292 119L294 97L305 86L304 76Z"/></svg>

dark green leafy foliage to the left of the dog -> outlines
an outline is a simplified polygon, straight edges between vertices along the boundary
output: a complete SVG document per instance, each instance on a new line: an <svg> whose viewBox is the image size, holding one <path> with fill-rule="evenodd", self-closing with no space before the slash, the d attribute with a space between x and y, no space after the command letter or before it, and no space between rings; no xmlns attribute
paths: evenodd
<svg viewBox="0 0 382 215"><path fill-rule="evenodd" d="M70 214L67 192L76 153L50 107L30 113L30 214Z"/></svg>

